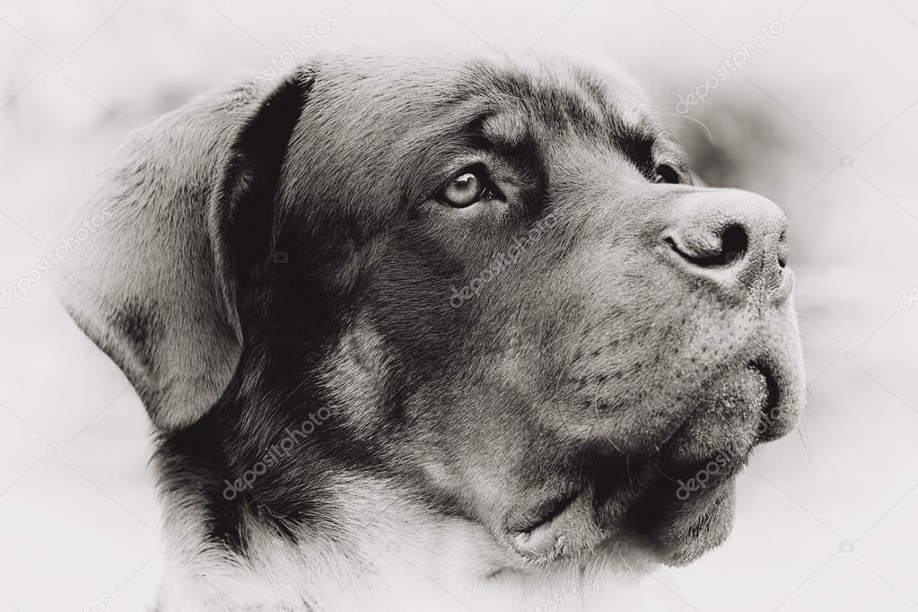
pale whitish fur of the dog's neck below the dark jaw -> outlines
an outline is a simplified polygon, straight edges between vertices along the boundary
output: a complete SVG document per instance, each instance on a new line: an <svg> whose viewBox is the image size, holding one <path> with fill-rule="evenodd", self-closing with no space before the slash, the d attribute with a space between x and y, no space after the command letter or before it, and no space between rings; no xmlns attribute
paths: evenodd
<svg viewBox="0 0 918 612"><path fill-rule="evenodd" d="M365 477L342 477L318 517L293 532L241 510L242 545L231 550L207 533L213 506L200 489L163 491L162 612L634 609L649 567L622 546L523 571L487 529L431 515L393 484ZM646 593L641 602L646 609Z"/></svg>

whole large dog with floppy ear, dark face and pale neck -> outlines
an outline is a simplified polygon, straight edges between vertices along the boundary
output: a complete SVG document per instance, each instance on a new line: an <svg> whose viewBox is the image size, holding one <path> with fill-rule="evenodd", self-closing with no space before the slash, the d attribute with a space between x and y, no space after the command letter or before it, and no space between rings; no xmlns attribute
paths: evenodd
<svg viewBox="0 0 918 612"><path fill-rule="evenodd" d="M784 215L602 62L319 54L133 134L78 217L163 612L623 605L803 404Z"/></svg>

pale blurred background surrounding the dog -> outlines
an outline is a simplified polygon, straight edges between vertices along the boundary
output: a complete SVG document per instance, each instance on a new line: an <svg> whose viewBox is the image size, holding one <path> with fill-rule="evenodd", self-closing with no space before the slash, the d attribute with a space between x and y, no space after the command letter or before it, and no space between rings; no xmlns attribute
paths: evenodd
<svg viewBox="0 0 918 612"><path fill-rule="evenodd" d="M809 406L756 452L728 543L647 579L659 609L918 608L914 2L4 0L0 612L142 610L162 572L146 417L50 295L56 226L121 139L197 92L405 38L593 47L709 183L789 215Z"/></svg>

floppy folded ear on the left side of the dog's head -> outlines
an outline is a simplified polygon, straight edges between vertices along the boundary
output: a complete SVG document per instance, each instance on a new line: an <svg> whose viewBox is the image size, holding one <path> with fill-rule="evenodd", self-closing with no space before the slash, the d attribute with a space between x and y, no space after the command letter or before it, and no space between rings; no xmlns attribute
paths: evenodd
<svg viewBox="0 0 918 612"><path fill-rule="evenodd" d="M300 71L267 94L211 95L162 117L118 151L73 224L84 239L55 291L159 428L202 417L236 371L312 82Z"/></svg>

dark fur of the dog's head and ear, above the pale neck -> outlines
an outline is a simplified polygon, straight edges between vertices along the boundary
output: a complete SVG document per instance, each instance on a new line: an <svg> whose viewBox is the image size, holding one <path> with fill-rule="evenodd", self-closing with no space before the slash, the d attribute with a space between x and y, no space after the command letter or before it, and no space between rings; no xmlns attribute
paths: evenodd
<svg viewBox="0 0 918 612"><path fill-rule="evenodd" d="M496 115L519 133L488 138ZM431 200L457 159L498 175L502 212L460 219ZM663 161L682 184L655 184ZM793 425L801 388L786 295L758 278L727 295L660 254L689 195L729 210L747 197L690 184L685 152L617 76L317 58L129 143L90 205L113 221L69 263L62 299L138 389L165 497L193 494L211 546L244 555L246 514L291 540L335 529L324 506L351 474L501 545L586 492L592 527L572 528L562 555L597 546L594 527L628 528L685 562L725 536L732 489L677 504L673 482L716 451L735 473ZM453 287L546 220L520 261L451 306ZM308 443L224 499L321 408ZM763 421L764 408L777 412Z"/></svg>

